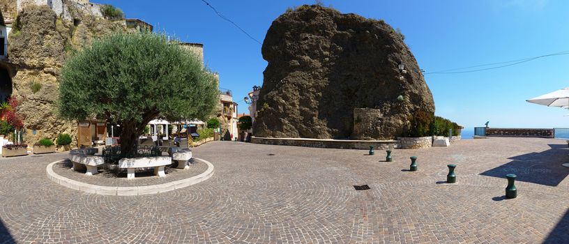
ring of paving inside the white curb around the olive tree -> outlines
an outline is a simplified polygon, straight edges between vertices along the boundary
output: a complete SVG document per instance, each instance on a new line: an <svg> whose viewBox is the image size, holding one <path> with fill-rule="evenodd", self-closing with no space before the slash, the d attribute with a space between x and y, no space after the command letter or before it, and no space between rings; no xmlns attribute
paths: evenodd
<svg viewBox="0 0 569 244"><path fill-rule="evenodd" d="M70 161L59 162L53 166L53 170L60 176L70 178L82 183L93 185L106 185L106 186L142 186L142 185L158 185L169 183L172 181L179 181L184 178L190 178L202 174L208 168L205 162L194 160L190 165L190 169L175 169L166 167L166 177L158 177L154 175L152 170L137 171L134 179L126 178L126 171L121 171L116 174L116 171L106 170L100 167L99 174L93 176L86 176L86 169L80 171L73 171L70 168L73 164Z"/></svg>

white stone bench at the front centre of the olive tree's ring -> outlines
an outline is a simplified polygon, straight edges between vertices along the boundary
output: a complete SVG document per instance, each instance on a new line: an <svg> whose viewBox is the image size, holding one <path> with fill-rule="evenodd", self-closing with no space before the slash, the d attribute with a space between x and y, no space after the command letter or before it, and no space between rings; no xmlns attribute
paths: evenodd
<svg viewBox="0 0 569 244"><path fill-rule="evenodd" d="M166 176L164 167L172 165L172 158L168 156L157 156L149 158L123 158L119 160L119 168L126 169L126 178L135 178L137 168L154 168L154 175L158 177Z"/></svg>

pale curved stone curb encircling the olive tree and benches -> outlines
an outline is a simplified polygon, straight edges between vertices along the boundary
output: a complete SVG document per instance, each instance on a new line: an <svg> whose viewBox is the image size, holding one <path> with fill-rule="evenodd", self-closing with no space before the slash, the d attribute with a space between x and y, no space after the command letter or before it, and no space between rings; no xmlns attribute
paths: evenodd
<svg viewBox="0 0 569 244"><path fill-rule="evenodd" d="M91 194L98 194L98 195L105 195L105 196L140 196L140 195L153 195L162 192L169 192L172 190L177 190L181 188L186 188L190 185L195 185L202 181L206 181L208 178L213 176L213 165L211 162L207 160L203 160L200 158L194 158L196 160L200 160L205 162L208 165L206 171L202 174L198 174L197 176L192 176L190 178L185 178L179 181L172 181L169 183L162 183L159 185L144 185L144 186L106 186L106 185L92 185L87 183L82 183L79 181L74 181L70 178L66 178L56 174L53 171L53 166L58 162L63 162L65 160L59 160L50 163L47 165L47 178L58 183L59 185L63 185L66 188L71 188L73 190L80 190L82 192L87 192Z"/></svg>

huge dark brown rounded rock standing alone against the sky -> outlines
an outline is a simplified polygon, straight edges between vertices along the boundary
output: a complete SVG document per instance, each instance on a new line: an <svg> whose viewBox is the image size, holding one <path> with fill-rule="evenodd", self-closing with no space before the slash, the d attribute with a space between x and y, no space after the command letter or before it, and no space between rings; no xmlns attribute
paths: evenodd
<svg viewBox="0 0 569 244"><path fill-rule="evenodd" d="M301 6L273 22L262 54L257 137L392 139L432 121L415 57L382 20Z"/></svg>

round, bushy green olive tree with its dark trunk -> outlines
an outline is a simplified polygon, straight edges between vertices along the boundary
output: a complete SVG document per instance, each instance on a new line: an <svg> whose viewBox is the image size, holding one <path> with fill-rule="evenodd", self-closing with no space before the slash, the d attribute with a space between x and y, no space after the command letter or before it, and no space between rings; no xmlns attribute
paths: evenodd
<svg viewBox="0 0 569 244"><path fill-rule="evenodd" d="M149 121L206 119L218 82L199 58L162 34L114 33L70 57L61 71L59 114L119 124L121 151L133 153Z"/></svg>

